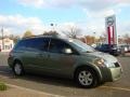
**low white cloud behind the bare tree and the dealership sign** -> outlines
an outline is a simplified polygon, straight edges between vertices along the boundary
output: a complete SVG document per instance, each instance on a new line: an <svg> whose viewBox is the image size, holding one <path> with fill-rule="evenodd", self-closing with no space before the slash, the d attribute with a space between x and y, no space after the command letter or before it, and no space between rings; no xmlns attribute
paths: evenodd
<svg viewBox="0 0 130 97"><path fill-rule="evenodd" d="M90 20L88 23L63 23L61 24L60 31L65 31L67 30L70 26L75 26L77 28L81 29L81 34L82 36L102 36L102 33L106 32L105 29L105 19L98 19L95 20ZM119 24L119 20L117 20L117 32L120 36L123 36L125 33L130 32L130 23L129 22L122 22Z"/></svg>

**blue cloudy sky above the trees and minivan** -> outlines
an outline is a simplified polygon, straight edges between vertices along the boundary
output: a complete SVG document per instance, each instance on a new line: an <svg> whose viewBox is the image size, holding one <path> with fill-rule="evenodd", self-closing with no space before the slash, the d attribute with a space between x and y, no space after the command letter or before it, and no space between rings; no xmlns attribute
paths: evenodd
<svg viewBox="0 0 130 97"><path fill-rule="evenodd" d="M102 36L105 17L113 14L118 34L130 33L130 0L1 0L0 28L4 34L23 36L26 30L62 33L76 27L81 36Z"/></svg>

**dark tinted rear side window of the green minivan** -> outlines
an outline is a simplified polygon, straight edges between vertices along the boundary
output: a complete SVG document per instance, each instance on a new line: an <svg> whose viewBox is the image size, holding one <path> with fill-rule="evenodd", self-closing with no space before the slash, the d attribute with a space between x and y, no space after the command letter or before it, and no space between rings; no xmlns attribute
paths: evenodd
<svg viewBox="0 0 130 97"><path fill-rule="evenodd" d="M50 39L48 38L34 38L34 39L26 39L22 40L17 43L14 50L29 50L29 51L48 51L48 45L49 45Z"/></svg>

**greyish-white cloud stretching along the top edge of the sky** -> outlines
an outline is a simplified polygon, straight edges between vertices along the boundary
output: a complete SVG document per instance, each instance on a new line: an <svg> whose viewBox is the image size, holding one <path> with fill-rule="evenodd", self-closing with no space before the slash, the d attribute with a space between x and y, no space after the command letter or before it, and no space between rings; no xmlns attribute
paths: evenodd
<svg viewBox="0 0 130 97"><path fill-rule="evenodd" d="M89 17L105 17L109 12L118 14L130 0L18 0L18 3L37 8L81 8Z"/></svg>

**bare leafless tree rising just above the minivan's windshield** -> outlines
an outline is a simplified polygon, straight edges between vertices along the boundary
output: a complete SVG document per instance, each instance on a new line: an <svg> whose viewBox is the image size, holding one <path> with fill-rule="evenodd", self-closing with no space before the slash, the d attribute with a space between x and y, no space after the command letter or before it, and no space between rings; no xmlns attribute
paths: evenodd
<svg viewBox="0 0 130 97"><path fill-rule="evenodd" d="M78 36L80 36L81 29L77 28L76 26L70 26L66 31L63 31L63 33L68 38L76 39Z"/></svg>

